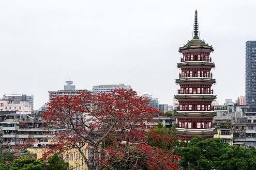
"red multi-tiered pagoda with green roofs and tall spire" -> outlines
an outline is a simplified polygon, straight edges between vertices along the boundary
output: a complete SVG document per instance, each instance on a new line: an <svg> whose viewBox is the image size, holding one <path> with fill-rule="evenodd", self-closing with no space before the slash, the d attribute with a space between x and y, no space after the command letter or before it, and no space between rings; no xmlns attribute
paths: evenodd
<svg viewBox="0 0 256 170"><path fill-rule="evenodd" d="M196 135L203 139L213 138L217 131L213 125L213 117L216 116L212 102L216 98L213 94L213 79L211 70L215 67L210 57L214 49L198 36L198 11L195 10L193 39L183 47L179 47L182 53L177 67L181 70L176 83L179 84L179 102L176 118L176 134L179 140L189 142Z"/></svg>

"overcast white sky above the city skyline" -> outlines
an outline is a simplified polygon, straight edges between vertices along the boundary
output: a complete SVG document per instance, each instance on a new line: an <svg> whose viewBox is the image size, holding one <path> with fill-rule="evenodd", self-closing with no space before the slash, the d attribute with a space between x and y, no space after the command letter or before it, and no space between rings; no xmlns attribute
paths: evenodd
<svg viewBox="0 0 256 170"><path fill-rule="evenodd" d="M77 89L125 83L172 104L178 48L192 37L213 45L220 104L245 95L245 42L256 40L256 1L0 1L1 88L34 95L34 109L66 80Z"/></svg>

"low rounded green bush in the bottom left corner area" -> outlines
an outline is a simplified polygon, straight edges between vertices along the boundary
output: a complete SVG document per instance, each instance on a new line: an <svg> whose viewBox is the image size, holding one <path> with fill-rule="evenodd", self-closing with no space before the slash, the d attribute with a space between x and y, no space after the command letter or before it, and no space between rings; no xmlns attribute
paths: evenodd
<svg viewBox="0 0 256 170"><path fill-rule="evenodd" d="M41 170L42 162L34 158L16 159L11 164L10 170Z"/></svg>

